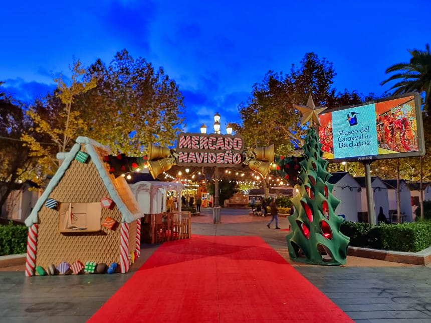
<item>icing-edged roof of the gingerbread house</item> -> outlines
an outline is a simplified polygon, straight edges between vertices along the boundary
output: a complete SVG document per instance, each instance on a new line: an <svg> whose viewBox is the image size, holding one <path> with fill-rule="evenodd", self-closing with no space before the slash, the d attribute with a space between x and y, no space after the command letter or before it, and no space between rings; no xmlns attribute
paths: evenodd
<svg viewBox="0 0 431 323"><path fill-rule="evenodd" d="M32 226L34 223L38 223L38 213L40 209L44 206L45 202L48 200L50 193L57 186L57 184L63 178L65 172L69 168L71 162L75 159L76 155L81 151L81 146L85 147L87 154L90 156L90 161L94 163L100 178L102 179L111 199L117 205L119 211L122 214L122 222L132 222L144 214L140 211L138 203L130 190L124 177L114 178L108 173L108 170L100 156L100 152L105 155L111 154L111 150L107 146L103 146L87 137L78 137L76 139L76 144L73 145L72 149L68 153L59 153L57 157L59 159L64 158L63 163L60 165L59 169L55 173L54 177L49 182L42 196L36 202L35 207L30 213L29 217L26 219L26 225Z"/></svg>

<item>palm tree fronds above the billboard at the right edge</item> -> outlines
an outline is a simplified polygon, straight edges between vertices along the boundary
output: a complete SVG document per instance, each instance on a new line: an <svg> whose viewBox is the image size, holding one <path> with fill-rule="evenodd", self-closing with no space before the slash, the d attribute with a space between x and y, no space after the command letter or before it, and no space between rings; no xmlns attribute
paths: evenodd
<svg viewBox="0 0 431 323"><path fill-rule="evenodd" d="M426 50L408 50L411 55L409 63L398 63L388 67L386 74L393 73L391 77L383 81L381 85L392 80L400 80L394 84L390 90L395 89L393 94L407 93L411 91L425 92L424 111L428 114L431 98L431 53L429 52L429 44L425 45Z"/></svg>

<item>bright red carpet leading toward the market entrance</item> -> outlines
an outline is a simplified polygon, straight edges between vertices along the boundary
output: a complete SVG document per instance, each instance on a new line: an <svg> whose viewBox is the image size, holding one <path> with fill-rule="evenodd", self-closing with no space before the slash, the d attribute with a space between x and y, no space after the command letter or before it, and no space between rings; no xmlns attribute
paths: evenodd
<svg viewBox="0 0 431 323"><path fill-rule="evenodd" d="M352 322L260 237L163 243L89 322Z"/></svg>

